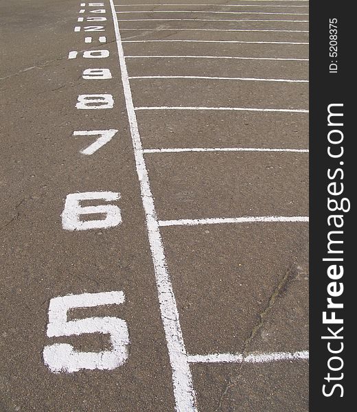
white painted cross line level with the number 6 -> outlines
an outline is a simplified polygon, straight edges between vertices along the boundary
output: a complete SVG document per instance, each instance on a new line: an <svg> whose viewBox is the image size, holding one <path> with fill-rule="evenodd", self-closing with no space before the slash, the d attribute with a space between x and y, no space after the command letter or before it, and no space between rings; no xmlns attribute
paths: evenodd
<svg viewBox="0 0 357 412"><path fill-rule="evenodd" d="M204 218L159 220L159 226L219 225L221 223L308 222L308 216L244 216L240 218Z"/></svg>

